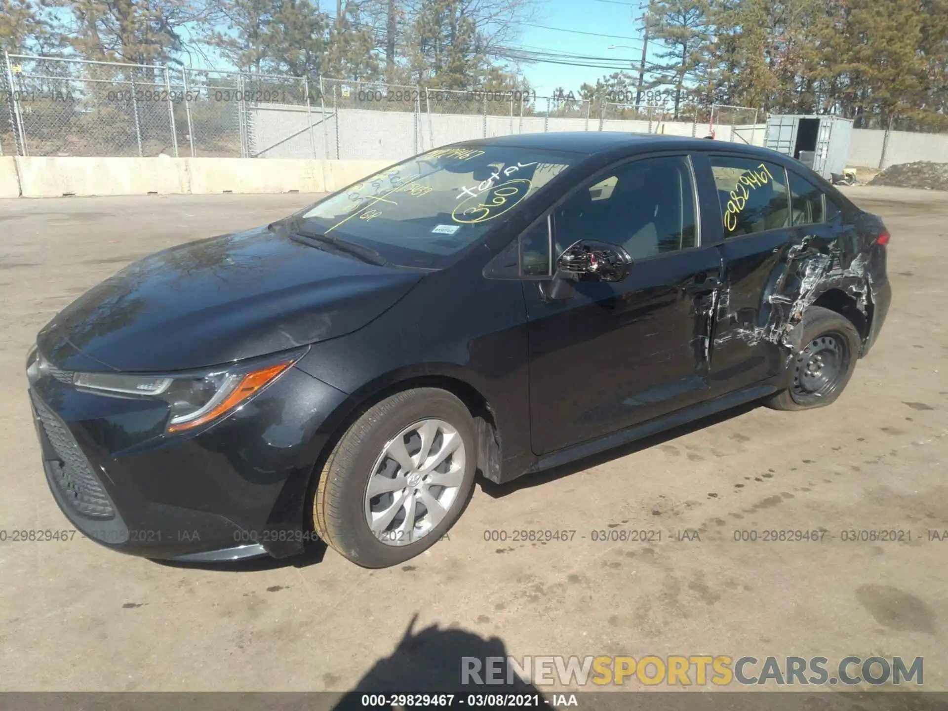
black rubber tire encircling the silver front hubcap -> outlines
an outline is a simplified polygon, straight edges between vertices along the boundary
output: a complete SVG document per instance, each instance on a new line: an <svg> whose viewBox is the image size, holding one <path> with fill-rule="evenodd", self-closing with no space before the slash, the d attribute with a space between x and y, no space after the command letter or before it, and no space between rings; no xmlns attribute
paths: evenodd
<svg viewBox="0 0 948 711"><path fill-rule="evenodd" d="M459 465L459 471L463 468L460 488L444 519L425 536L393 545L386 542L393 541L393 535L374 534L370 528L367 507L373 504L366 501L367 487L385 447L399 432L427 419L444 421L461 437L464 465ZM364 568L387 568L417 556L444 536L464 511L477 469L476 445L470 412L450 392L415 388L387 397L346 430L322 467L313 501L313 523L319 538ZM393 460L388 464L383 460L383 465L390 464L397 472L401 471ZM392 494L394 496L396 494ZM407 515L403 514L404 518Z"/></svg>

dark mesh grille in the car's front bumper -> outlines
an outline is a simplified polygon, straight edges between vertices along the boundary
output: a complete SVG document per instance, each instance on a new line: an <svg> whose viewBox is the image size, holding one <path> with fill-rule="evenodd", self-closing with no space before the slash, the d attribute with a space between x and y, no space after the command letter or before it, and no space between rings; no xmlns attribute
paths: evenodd
<svg viewBox="0 0 948 711"><path fill-rule="evenodd" d="M59 486L64 499L82 516L90 519L111 519L115 510L76 440L38 397L33 397L33 406L49 444L59 458L50 464L52 479Z"/></svg>

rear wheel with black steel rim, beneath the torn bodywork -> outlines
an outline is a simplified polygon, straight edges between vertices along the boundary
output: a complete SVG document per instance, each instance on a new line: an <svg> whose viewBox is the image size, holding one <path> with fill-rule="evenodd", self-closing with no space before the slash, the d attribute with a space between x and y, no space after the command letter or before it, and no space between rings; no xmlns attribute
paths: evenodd
<svg viewBox="0 0 948 711"><path fill-rule="evenodd" d="M807 309L797 328L803 330L802 348L790 361L790 386L764 401L774 410L812 410L835 402L852 377L862 348L852 321L822 306Z"/></svg>

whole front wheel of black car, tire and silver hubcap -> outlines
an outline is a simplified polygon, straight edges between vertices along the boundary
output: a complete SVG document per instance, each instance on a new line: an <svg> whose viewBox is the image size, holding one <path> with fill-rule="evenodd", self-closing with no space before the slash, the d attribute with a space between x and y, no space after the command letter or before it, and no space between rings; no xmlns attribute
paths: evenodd
<svg viewBox="0 0 948 711"><path fill-rule="evenodd" d="M477 467L474 422L450 392L416 388L367 410L322 468L319 538L365 568L397 565L461 516Z"/></svg>

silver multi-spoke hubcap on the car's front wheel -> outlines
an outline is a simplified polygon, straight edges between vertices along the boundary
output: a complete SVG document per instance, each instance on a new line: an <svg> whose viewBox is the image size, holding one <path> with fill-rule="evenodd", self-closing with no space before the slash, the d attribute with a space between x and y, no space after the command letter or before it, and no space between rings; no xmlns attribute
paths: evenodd
<svg viewBox="0 0 948 711"><path fill-rule="evenodd" d="M428 536L458 499L465 445L442 420L422 420L382 448L365 490L365 520L393 546Z"/></svg>

